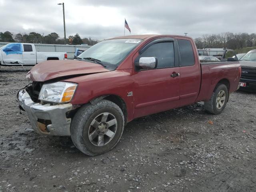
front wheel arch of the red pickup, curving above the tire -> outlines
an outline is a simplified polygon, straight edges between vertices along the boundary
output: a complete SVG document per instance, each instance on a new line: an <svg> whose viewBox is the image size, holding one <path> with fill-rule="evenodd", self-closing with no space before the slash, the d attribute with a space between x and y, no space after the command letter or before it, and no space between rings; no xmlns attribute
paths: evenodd
<svg viewBox="0 0 256 192"><path fill-rule="evenodd" d="M97 98L94 98L94 99L90 100L90 103L94 105L94 104L100 102L102 99L109 100L109 101L117 104L120 107L120 109L122 110L122 112L124 114L124 124L126 125L128 112L127 112L127 107L126 107L125 101L118 95L109 94L109 95L102 95Z"/></svg>

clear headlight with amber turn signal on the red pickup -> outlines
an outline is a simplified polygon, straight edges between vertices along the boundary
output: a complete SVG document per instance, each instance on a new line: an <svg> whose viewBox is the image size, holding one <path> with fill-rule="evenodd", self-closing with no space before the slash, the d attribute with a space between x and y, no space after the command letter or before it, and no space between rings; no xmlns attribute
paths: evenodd
<svg viewBox="0 0 256 192"><path fill-rule="evenodd" d="M46 102L69 102L76 90L77 84L69 82L56 82L44 84L38 99Z"/></svg>

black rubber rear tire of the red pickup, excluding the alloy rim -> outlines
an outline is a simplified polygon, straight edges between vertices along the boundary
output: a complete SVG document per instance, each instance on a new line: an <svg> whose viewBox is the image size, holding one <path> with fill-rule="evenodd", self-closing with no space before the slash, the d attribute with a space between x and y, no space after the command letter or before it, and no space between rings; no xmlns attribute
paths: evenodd
<svg viewBox="0 0 256 192"><path fill-rule="evenodd" d="M223 100L224 101L223 106L220 107L220 105L219 105L220 108L217 108L217 100L216 99L218 97L218 94L221 91L225 92L225 100ZM210 100L204 102L204 109L210 114L215 114L215 115L220 114L220 113L222 113L222 111L226 107L226 104L228 102L228 98L229 98L229 92L228 92L228 88L226 87L226 85L217 84L216 88L214 89L214 91L212 93L212 96L211 96Z"/></svg>

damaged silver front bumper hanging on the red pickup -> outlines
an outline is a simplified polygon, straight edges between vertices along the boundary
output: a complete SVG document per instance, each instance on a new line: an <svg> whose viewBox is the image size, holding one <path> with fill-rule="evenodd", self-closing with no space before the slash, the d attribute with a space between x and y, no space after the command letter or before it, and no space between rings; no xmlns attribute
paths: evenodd
<svg viewBox="0 0 256 192"><path fill-rule="evenodd" d="M73 109L72 104L35 103L24 89L18 93L18 102L28 113L32 127L39 134L70 136L71 118L66 118L66 112Z"/></svg>

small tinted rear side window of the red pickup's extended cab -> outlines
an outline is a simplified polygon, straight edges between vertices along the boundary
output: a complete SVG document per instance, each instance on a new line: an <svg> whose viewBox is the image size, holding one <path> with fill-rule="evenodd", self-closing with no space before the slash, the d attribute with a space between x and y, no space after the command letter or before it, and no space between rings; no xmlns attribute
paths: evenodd
<svg viewBox="0 0 256 192"><path fill-rule="evenodd" d="M194 51L189 40L178 39L180 48L181 66L192 66L195 64Z"/></svg>

